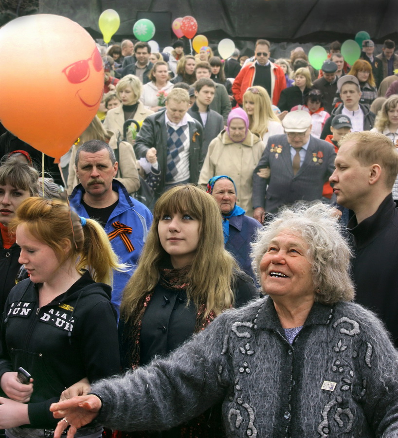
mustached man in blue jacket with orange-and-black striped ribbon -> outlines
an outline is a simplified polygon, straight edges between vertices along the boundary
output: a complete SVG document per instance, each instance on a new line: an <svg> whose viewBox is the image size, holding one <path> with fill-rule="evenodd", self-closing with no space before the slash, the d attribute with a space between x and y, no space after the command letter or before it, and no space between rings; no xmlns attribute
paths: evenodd
<svg viewBox="0 0 398 438"><path fill-rule="evenodd" d="M79 216L96 219L108 233L113 251L127 272L115 272L111 301L119 313L122 291L135 269L152 214L141 202L128 196L125 186L115 180L118 163L113 150L101 140L83 143L76 151L78 184L70 197ZM92 242L95 245L95 242Z"/></svg>

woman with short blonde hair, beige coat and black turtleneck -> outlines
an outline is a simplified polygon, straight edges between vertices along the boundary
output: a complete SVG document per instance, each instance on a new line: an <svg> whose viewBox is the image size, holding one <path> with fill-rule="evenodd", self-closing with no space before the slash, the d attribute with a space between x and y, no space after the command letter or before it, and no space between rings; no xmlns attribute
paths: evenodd
<svg viewBox="0 0 398 438"><path fill-rule="evenodd" d="M141 122L148 115L153 114L153 111L147 110L143 103L139 102L142 90L141 81L134 74L122 77L116 85L116 95L122 105L107 112L104 127L111 129L120 139L123 139L123 124L126 120L134 119ZM133 136L129 131L127 131L127 141L134 144Z"/></svg>

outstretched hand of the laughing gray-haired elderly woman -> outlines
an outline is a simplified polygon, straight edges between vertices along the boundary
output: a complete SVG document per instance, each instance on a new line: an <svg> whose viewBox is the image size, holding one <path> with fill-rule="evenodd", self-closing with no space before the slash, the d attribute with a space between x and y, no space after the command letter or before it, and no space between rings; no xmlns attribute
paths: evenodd
<svg viewBox="0 0 398 438"><path fill-rule="evenodd" d="M67 420L58 421L54 438L60 438L68 425L71 425L71 427L68 430L67 438L74 437L76 430L94 420L100 409L101 400L93 394L53 403L50 406L50 411L53 412L54 418L65 418Z"/></svg>

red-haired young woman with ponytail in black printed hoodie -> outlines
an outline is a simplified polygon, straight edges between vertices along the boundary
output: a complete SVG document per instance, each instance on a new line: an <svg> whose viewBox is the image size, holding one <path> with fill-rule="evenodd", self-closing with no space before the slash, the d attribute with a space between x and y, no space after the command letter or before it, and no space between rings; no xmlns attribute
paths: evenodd
<svg viewBox="0 0 398 438"><path fill-rule="evenodd" d="M26 199L10 229L30 277L8 295L1 321L0 384L8 398L2 400L0 425L8 437L28 432L44 438L56 426L49 405L66 387L119 370L109 284L112 270L124 266L101 225L59 200ZM32 377L26 384L17 377L18 367ZM101 433L101 426L90 426L79 436Z"/></svg>

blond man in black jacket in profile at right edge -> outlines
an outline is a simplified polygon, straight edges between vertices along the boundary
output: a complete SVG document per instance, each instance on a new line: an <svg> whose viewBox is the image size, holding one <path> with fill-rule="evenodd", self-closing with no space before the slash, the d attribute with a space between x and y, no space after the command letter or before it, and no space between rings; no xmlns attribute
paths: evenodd
<svg viewBox="0 0 398 438"><path fill-rule="evenodd" d="M398 209L391 193L398 154L377 132L352 132L339 144L329 181L337 202L355 213L348 231L356 301L379 315L398 347Z"/></svg>

